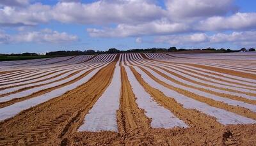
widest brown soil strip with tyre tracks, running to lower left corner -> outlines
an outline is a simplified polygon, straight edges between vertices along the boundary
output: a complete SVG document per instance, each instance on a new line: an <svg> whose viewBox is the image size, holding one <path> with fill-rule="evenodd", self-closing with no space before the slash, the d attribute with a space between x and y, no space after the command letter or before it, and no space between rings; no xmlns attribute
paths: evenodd
<svg viewBox="0 0 256 146"><path fill-rule="evenodd" d="M91 80L77 89L1 122L0 133L3 140L1 143L13 143L13 140L9 140L13 137L14 143L25 142L29 145L42 142L61 142L61 138L67 131L76 132L76 128L83 122L83 116L92 108L100 94L108 86L114 68L115 63L111 63L100 69ZM17 122L20 124L16 124ZM46 138L31 139L29 133L33 133L34 137L43 135Z"/></svg>

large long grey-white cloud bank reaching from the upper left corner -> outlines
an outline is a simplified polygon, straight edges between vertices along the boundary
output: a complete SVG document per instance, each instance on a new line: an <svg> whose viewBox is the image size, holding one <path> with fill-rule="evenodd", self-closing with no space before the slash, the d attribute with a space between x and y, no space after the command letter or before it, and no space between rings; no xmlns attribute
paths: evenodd
<svg viewBox="0 0 256 146"><path fill-rule="evenodd" d="M9 0L0 1L0 6L6 3L0 7L1 26L36 26L50 20L71 24L140 24L164 15L160 6L148 0L100 0L93 3L61 0L54 6L29 4L28 0L15 1L24 3L24 6L11 6Z"/></svg>

